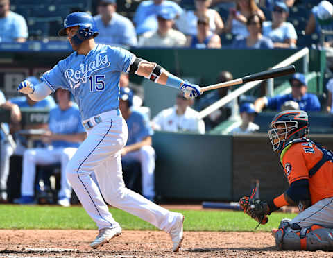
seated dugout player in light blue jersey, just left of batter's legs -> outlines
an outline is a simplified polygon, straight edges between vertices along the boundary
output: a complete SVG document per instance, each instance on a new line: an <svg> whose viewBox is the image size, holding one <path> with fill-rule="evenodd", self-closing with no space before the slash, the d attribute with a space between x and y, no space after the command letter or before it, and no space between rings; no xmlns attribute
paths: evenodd
<svg viewBox="0 0 333 258"><path fill-rule="evenodd" d="M37 165L61 163L61 188L58 192L58 205L70 206L71 186L67 182L66 166L74 156L86 132L81 123L80 111L71 101L71 93L66 89L56 91L58 106L50 111L49 128L42 140L49 144L46 148L31 148L24 151L21 197L17 204L33 204L35 201L35 176Z"/></svg>

